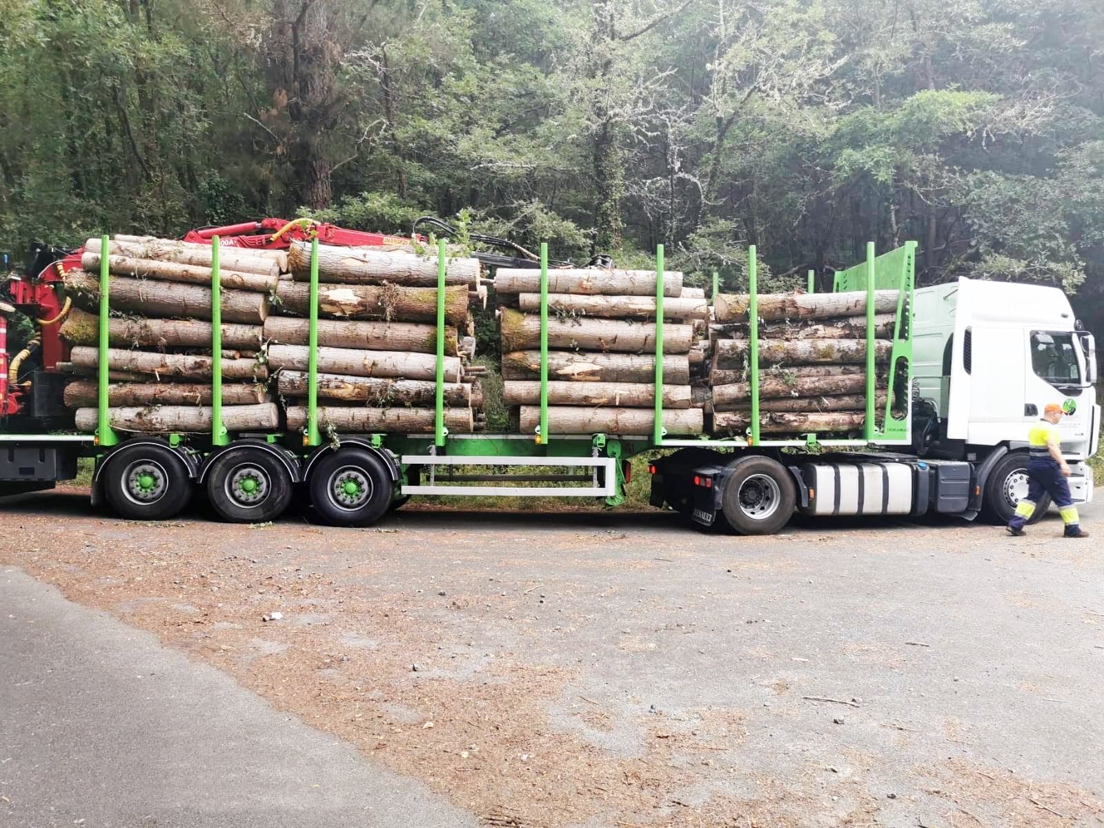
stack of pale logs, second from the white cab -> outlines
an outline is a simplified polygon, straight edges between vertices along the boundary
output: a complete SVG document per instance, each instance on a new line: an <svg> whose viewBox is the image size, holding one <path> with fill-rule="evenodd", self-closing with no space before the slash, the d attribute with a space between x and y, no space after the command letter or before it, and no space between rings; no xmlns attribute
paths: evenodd
<svg viewBox="0 0 1104 828"><path fill-rule="evenodd" d="M518 407L522 434L540 425L540 270L500 268L503 402ZM655 423L656 274L652 270L549 272L548 425L558 434L651 434ZM700 434L702 399L691 389L701 371L709 308L704 293L664 275L664 427Z"/></svg>

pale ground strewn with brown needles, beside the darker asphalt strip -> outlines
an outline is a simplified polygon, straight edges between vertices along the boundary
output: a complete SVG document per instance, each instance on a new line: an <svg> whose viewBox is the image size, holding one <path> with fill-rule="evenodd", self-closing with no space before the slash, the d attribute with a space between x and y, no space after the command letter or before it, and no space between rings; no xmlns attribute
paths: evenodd
<svg viewBox="0 0 1104 828"><path fill-rule="evenodd" d="M482 825L1104 825L1104 560L1053 519L251 528L52 492L0 531L0 563Z"/></svg>

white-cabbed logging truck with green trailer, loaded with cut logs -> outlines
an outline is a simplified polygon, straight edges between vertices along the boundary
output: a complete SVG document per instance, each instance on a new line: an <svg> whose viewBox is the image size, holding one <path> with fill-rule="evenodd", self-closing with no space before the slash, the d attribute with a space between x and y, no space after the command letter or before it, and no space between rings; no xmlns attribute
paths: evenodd
<svg viewBox="0 0 1104 828"><path fill-rule="evenodd" d="M508 432L490 433L473 427L469 408L450 407L471 400L470 388L458 382L464 368L449 355L459 344L456 328L449 339L447 325L463 318L471 283L463 276L457 286L452 278L455 268L446 267L443 242L436 277L428 285L435 286L434 307L427 314L436 320L432 341L390 365L388 374L389 393L397 389L408 394L403 397L407 406L421 407L395 406L384 414L365 408L375 412L369 415L355 407L319 404L320 394L338 391L363 400L363 389L376 382L370 372L336 380L320 371L319 360L328 350L319 343L320 331L323 338L344 336L330 331L327 326L333 322L320 317L337 305L364 301L364 291L386 286L338 296L319 283L319 243L363 248L410 240L278 220L193 231L182 240L187 257L177 251L171 275L164 278L210 279L204 288L205 327L172 322L174 341L187 343L199 336L210 357L182 357L201 361L189 369L193 373L181 374L191 378L187 384L146 383L153 396L130 401L134 407L125 411L130 420L157 420L157 433L135 433L120 425L118 412L124 408L118 406L120 400L127 403L127 393L138 392L113 385L113 380L134 372L134 378L160 381L158 371L168 370L168 363L159 359L147 365L141 362L146 357L135 354L125 364L113 363L113 350L118 350L113 349L114 340L140 338L148 330L136 332L127 327L132 320L113 317L112 294L130 289L138 297L132 301L160 304L164 317L185 317L189 314L179 308L193 301L189 297L194 291L181 285L152 297L148 289L138 296L140 282L113 282L113 266L140 265L119 263L128 238L137 237L116 236L109 243L104 236L102 246L89 242L77 251L40 246L26 275L9 274L0 286L0 495L73 479L78 459L91 458L93 503L104 502L128 519L171 518L203 491L214 512L227 521L273 520L294 502L331 524L367 526L422 496L563 496L617 506L625 501L629 459L647 455L651 505L672 509L699 528L767 534L796 512L817 518L984 514L1004 522L1027 492L1028 427L1044 405L1061 401L1062 448L1073 470L1070 488L1075 502L1092 498L1085 459L1096 452L1100 431L1095 344L1064 294L965 278L917 289L914 243L880 256L869 245L866 261L834 275L831 291L817 294L810 274L807 291L769 299L776 305L771 308L768 297L757 290L754 248L746 294L720 294L714 275L714 307L702 311L714 322L709 325L710 337L718 337L709 343L714 380L707 402L697 401L698 389L686 373L688 357L672 360L671 350L686 354L694 348L688 331L679 328L678 340L665 342L665 318L671 318L665 317L665 301L670 315L684 320L699 312L704 299L683 290L681 283L672 290L670 274L665 284L661 246L646 289L630 285L631 290L620 291L630 295L612 302L617 312L644 314L650 320L648 335L633 340L631 353L588 357L585 369L580 368L580 354L570 350L584 335L565 329L561 314L611 305L590 296L601 290L578 288L601 283L603 270L580 275L577 268L563 269L558 266L562 263L549 263L543 246L540 256L516 245L511 255L477 254L482 266L502 268L501 289L518 297L517 311L502 311L503 346L516 337L519 349L530 349L503 347L502 373L514 378L507 383L508 402L520 405L520 417ZM211 252L202 245L210 245ZM306 257L305 283L279 280L286 268L279 255L289 248L290 255ZM246 256L235 257L235 251L275 252L276 264L268 272L264 263L257 267ZM519 252L523 255L516 255ZM66 280L66 266L82 263L85 272ZM98 279L93 267L100 268ZM478 283L477 275L477 288ZM265 322L266 339L301 342L269 346L268 368L278 365L280 394L297 397L282 414L275 404L262 402L269 392L223 384L244 370L238 362L246 353L226 349L247 348L254 335L241 341L234 337L244 337L242 329L257 322L252 295L227 294L251 287L272 290L288 312L305 317ZM100 312L89 317L95 330L86 333L93 344L72 347L57 331L75 312L70 293L78 290L93 296ZM471 298L478 296L478 290L471 291ZM818 319L843 306L851 316L835 330L821 330ZM414 310L426 311L423 306ZM522 311L537 316L522 318ZM35 332L8 364L6 320L17 312L32 321ZM785 327L793 317L808 317L799 341L786 341L792 332ZM264 322L263 314L259 319ZM606 349L601 326L586 331L587 347ZM806 333L811 338L803 338ZM407 335L421 336L413 329ZM846 336L850 351L825 338L829 336ZM550 339L556 347L559 338L567 342L565 350L550 351ZM825 361L824 353L849 364L829 376L815 364ZM790 368L795 357L813 364ZM83 370L85 379L74 382L63 365ZM611 365L631 373L602 373L613 371ZM170 368L177 370L174 363ZM250 370L257 379L257 369ZM580 370L598 373L572 373ZM418 379L412 379L412 371ZM597 382L565 382L564 372L573 380ZM644 381L637 375L641 372ZM195 382L195 376L206 379ZM262 379L267 381L267 374ZM824 390L826 383L835 383L832 390ZM603 393L596 391L599 385ZM615 394L613 407L606 393ZM799 393L813 396L803 397L800 405L787 402ZM76 423L66 396L71 405L82 406ZM564 396L577 407L562 405ZM151 415L150 408L158 406L141 407L151 400L193 400L191 412L172 407L193 415L173 421L189 425L173 431L167 420ZM834 407L831 401L846 402ZM238 407L265 405L272 407L263 417L236 417ZM625 405L630 407L620 407ZM458 416L461 411L467 414ZM688 412L693 417L687 417ZM699 426L684 425L703 422L703 413L712 423L708 432L693 433ZM338 421L338 414L343 420ZM840 436L841 428L849 433Z"/></svg>

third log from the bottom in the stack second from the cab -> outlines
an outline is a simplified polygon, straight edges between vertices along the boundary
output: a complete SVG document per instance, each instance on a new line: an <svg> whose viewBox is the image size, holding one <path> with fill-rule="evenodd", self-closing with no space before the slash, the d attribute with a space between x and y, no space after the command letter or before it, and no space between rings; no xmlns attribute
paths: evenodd
<svg viewBox="0 0 1104 828"><path fill-rule="evenodd" d="M502 354L503 380L540 380L540 351ZM637 353L575 353L549 351L549 379L572 382L655 382L656 358ZM664 357L664 383L690 384L686 355Z"/></svg>

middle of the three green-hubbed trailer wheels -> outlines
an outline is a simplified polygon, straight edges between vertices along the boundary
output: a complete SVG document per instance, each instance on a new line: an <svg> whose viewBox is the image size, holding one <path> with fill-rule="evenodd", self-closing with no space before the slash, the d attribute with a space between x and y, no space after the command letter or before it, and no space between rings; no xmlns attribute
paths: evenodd
<svg viewBox="0 0 1104 828"><path fill-rule="evenodd" d="M223 453L206 476L208 500L231 523L265 523L291 502L291 475L263 448L242 446Z"/></svg>

